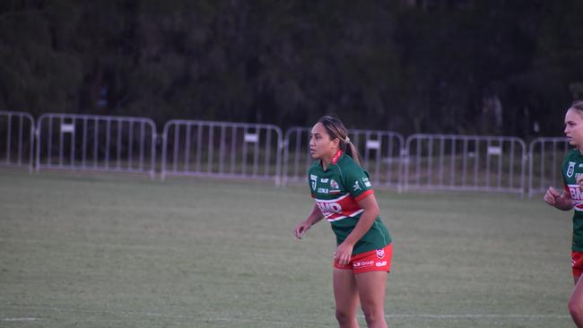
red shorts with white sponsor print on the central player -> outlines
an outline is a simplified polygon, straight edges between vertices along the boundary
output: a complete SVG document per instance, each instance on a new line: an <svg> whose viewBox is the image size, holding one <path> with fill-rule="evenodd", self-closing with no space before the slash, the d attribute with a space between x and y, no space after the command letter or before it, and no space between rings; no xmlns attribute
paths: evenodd
<svg viewBox="0 0 583 328"><path fill-rule="evenodd" d="M354 274L371 271L391 272L391 257L393 257L393 244L388 244L383 248L354 255L346 265L340 265L334 261L334 267L352 270Z"/></svg>

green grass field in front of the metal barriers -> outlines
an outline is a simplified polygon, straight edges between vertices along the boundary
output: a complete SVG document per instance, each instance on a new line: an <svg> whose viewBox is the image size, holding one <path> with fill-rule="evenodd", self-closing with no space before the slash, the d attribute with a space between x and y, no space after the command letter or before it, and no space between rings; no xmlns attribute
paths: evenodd
<svg viewBox="0 0 583 328"><path fill-rule="evenodd" d="M390 327L572 327L571 212L376 191ZM0 169L1 327L335 327L307 187ZM360 314L361 326L364 319Z"/></svg>

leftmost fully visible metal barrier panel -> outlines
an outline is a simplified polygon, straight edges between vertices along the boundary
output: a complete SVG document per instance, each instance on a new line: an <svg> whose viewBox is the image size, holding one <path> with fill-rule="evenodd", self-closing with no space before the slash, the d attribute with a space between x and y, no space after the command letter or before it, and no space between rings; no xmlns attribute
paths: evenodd
<svg viewBox="0 0 583 328"><path fill-rule="evenodd" d="M37 170L63 168L149 173L156 127L143 117L45 114L37 127Z"/></svg>

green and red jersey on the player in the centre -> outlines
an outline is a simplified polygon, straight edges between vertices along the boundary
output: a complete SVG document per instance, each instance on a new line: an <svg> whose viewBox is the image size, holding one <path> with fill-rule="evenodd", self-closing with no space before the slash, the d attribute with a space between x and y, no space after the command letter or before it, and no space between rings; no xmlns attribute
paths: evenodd
<svg viewBox="0 0 583 328"><path fill-rule="evenodd" d="M308 171L312 197L332 226L336 244L340 245L352 232L364 211L358 202L373 194L369 174L352 157L338 151L324 170L320 160ZM377 217L369 231L361 237L352 255L379 249L391 243L387 227Z"/></svg>

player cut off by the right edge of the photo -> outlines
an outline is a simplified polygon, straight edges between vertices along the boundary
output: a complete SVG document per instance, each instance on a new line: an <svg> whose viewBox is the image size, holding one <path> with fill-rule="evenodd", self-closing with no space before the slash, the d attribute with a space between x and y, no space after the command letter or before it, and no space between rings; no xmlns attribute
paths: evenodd
<svg viewBox="0 0 583 328"><path fill-rule="evenodd" d="M565 114L565 135L574 149L562 161L562 194L552 186L544 194L544 202L562 211L575 208L571 266L575 289L569 300L569 312L575 324L583 327L583 101L575 101Z"/></svg>

